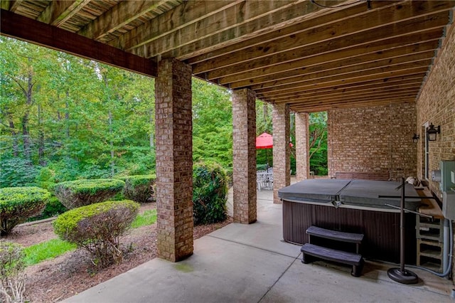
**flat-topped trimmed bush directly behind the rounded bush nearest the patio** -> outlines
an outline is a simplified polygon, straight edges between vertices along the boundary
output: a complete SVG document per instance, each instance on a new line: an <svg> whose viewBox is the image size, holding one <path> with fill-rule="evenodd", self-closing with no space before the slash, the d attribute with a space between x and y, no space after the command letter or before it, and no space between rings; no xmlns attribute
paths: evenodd
<svg viewBox="0 0 455 303"><path fill-rule="evenodd" d="M68 209L107 201L124 188L117 179L83 179L55 184L54 193Z"/></svg>

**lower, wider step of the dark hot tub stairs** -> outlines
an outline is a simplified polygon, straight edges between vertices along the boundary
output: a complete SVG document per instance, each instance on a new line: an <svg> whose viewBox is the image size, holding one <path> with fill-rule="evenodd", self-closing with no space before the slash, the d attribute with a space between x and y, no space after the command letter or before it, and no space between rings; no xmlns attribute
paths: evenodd
<svg viewBox="0 0 455 303"><path fill-rule="evenodd" d="M307 264L313 262L315 258L339 262L347 265L352 265L353 270L350 272L354 277L360 277L363 269L362 255L346 252L343 250L334 250L332 248L324 248L322 246L306 243L301 247L303 257L301 262Z"/></svg>

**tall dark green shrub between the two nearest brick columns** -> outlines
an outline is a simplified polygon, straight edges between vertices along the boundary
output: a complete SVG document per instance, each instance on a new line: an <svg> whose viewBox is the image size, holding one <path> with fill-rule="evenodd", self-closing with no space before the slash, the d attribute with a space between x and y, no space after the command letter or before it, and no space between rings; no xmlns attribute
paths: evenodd
<svg viewBox="0 0 455 303"><path fill-rule="evenodd" d="M228 178L218 164L195 164L193 167L194 223L210 224L227 218Z"/></svg>

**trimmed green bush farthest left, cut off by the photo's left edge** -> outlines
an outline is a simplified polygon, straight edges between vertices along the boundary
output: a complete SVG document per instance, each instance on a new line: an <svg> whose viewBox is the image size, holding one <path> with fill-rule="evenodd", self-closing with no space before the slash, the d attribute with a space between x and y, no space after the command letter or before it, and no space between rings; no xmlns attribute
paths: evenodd
<svg viewBox="0 0 455 303"><path fill-rule="evenodd" d="M0 235L43 211L50 193L36 186L0 188Z"/></svg>

